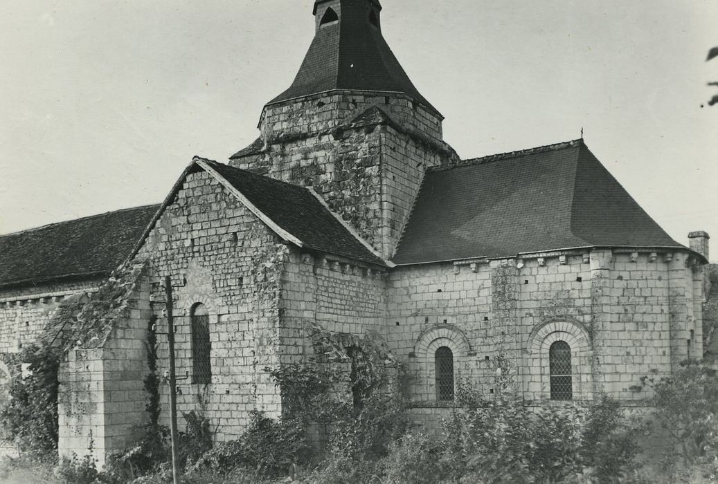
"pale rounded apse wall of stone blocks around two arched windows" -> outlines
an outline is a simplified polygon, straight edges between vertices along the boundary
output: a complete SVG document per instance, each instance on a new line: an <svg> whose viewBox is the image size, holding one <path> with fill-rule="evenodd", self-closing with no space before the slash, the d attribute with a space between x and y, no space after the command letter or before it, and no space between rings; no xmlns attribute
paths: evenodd
<svg viewBox="0 0 718 484"><path fill-rule="evenodd" d="M608 250L398 267L388 278L388 340L409 365L418 406L435 404L437 345L452 349L457 383L470 379L485 397L509 371L513 391L547 399L548 350L559 339L572 346L574 399L604 391L640 402L640 376L669 374L688 339L700 351L693 295L703 276L688 260Z"/></svg>

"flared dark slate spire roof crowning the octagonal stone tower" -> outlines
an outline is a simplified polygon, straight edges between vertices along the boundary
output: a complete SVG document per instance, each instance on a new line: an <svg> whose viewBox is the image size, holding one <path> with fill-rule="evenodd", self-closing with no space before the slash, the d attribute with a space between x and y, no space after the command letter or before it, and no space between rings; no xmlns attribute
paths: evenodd
<svg viewBox="0 0 718 484"><path fill-rule="evenodd" d="M343 0L340 21L317 29L294 82L268 104L332 90L404 92L440 115L416 90L381 28L370 24L369 6Z"/></svg>

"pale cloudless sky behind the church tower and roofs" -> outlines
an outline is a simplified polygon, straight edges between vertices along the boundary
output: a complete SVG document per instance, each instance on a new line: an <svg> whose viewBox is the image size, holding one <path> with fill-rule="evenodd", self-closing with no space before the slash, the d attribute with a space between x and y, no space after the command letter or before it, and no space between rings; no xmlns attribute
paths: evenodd
<svg viewBox="0 0 718 484"><path fill-rule="evenodd" d="M312 0L4 0L0 233L158 203L251 143ZM673 238L714 235L716 0L382 0L462 158L579 138ZM1 255L0 255L1 256Z"/></svg>

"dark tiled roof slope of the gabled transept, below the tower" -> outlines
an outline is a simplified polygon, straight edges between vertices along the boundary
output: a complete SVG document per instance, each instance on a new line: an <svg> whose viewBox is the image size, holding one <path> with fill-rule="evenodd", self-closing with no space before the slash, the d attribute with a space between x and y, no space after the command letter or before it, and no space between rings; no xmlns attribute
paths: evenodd
<svg viewBox="0 0 718 484"><path fill-rule="evenodd" d="M308 189L216 161L201 160L304 247L377 265L385 262L352 234Z"/></svg>

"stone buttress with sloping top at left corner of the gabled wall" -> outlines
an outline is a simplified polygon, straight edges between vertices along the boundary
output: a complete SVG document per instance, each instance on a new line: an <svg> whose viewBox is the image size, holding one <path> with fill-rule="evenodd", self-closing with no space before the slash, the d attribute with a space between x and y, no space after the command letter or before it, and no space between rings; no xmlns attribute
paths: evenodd
<svg viewBox="0 0 718 484"><path fill-rule="evenodd" d="M146 422L144 376L151 318L149 283L142 277L101 348L73 348L60 365L60 455L80 457L92 449L98 465L134 442Z"/></svg>

